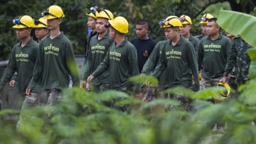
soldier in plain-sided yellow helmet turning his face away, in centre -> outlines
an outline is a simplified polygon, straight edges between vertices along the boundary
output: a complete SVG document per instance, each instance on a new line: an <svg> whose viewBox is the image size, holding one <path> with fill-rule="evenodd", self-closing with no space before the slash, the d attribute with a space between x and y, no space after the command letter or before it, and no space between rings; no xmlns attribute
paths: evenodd
<svg viewBox="0 0 256 144"><path fill-rule="evenodd" d="M105 59L100 66L87 78L91 82L93 78L100 76L109 68L110 86L113 90L126 93L133 91L134 83L127 82L131 76L139 75L136 48L124 37L128 32L128 22L124 17L116 17L109 22L109 36L115 42L108 49ZM136 84L135 97L141 98L140 84ZM115 107L124 112L131 112L129 105Z"/></svg>

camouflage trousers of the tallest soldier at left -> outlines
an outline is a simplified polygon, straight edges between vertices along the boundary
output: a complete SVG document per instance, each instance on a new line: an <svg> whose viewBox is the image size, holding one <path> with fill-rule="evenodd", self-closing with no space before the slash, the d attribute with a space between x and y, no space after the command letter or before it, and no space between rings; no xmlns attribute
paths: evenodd
<svg viewBox="0 0 256 144"><path fill-rule="evenodd" d="M56 105L61 101L62 93L59 89L43 90L40 98L40 105ZM51 118L54 114L52 110L51 113L45 113L44 118Z"/></svg>

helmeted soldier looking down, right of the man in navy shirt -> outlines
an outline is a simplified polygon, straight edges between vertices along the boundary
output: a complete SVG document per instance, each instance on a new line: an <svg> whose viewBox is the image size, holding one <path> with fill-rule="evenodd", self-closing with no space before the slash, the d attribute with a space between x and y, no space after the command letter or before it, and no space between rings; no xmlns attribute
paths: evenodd
<svg viewBox="0 0 256 144"><path fill-rule="evenodd" d="M168 40L163 43L162 54L152 76L158 77L166 70L166 73L171 75L166 75L164 89L185 87L198 91L199 77L196 54L193 45L180 35L180 27L182 26L180 19L176 16L169 16L160 21L159 24L164 28ZM194 84L192 84L192 74L195 76ZM171 95L173 99L182 103L182 109L191 110L188 98L177 93Z"/></svg>

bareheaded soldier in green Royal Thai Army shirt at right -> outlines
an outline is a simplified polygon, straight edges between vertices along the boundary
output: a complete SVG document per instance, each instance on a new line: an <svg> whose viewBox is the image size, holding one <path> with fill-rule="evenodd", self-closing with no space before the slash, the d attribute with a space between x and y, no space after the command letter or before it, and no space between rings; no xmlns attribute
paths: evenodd
<svg viewBox="0 0 256 144"><path fill-rule="evenodd" d="M217 86L222 78L227 58L231 53L232 42L220 31L216 23L217 18L208 20L206 33L208 36L200 41L198 51L198 65L202 68L200 90L210 86ZM213 100L215 103L215 100Z"/></svg>

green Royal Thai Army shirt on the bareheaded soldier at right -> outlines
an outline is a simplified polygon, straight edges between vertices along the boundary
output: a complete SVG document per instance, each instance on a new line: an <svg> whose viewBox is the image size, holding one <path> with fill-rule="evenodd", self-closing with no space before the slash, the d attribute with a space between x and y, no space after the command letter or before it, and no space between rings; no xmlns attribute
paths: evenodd
<svg viewBox="0 0 256 144"><path fill-rule="evenodd" d="M198 65L201 66L203 63L202 77L204 79L213 79L224 74L231 47L231 40L221 33L216 40L211 40L210 36L206 36L200 41Z"/></svg>

